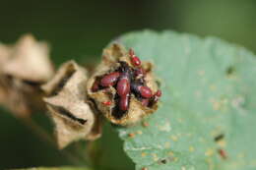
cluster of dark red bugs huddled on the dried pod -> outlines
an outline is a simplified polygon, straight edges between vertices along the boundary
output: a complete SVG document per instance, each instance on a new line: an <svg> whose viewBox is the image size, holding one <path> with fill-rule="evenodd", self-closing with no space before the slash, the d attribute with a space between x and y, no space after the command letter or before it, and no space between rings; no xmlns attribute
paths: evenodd
<svg viewBox="0 0 256 170"><path fill-rule="evenodd" d="M129 109L129 99L133 93L144 106L151 107L158 102L161 91L153 92L152 89L146 85L145 75L147 71L142 68L142 63L132 49L129 50L131 63L134 67L130 67L126 62L120 61L120 67L115 71L103 75L96 79L92 86L92 91L108 88L113 86L116 89L114 97L115 107L113 114L117 118L121 118ZM111 105L111 101L103 102L104 105Z"/></svg>

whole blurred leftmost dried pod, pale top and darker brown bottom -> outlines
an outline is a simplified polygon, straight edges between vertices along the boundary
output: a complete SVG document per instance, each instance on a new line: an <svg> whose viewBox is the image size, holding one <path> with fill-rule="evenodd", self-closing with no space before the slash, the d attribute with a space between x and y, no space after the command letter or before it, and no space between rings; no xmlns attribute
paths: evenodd
<svg viewBox="0 0 256 170"><path fill-rule="evenodd" d="M40 110L40 85L54 74L45 42L24 35L14 46L0 44L0 102L16 116Z"/></svg>

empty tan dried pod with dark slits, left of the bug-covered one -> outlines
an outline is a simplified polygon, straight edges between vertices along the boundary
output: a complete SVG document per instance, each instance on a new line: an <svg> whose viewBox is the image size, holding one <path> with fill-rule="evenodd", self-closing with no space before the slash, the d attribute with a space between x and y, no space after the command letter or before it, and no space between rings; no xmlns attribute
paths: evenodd
<svg viewBox="0 0 256 170"><path fill-rule="evenodd" d="M55 123L60 148L70 142L100 137L100 118L86 102L87 72L74 61L63 64L55 77L42 89L43 100Z"/></svg>

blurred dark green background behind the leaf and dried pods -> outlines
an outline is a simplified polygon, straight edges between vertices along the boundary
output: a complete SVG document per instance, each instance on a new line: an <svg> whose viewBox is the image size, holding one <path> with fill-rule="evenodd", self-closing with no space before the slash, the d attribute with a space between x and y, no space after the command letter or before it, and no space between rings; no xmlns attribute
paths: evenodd
<svg viewBox="0 0 256 170"><path fill-rule="evenodd" d="M0 41L12 43L23 33L32 32L49 42L51 58L58 65L69 59L96 63L111 39L144 28L215 35L255 52L256 1L0 0ZM86 155L84 142L58 151L8 111L0 111L0 169L72 165L67 154L78 157L74 150L80 150L79 154ZM52 132L45 115L36 114L33 119ZM91 146L100 155L95 161L97 169L132 169L117 135L109 125L106 127L103 139ZM101 148L103 144L114 147Z"/></svg>

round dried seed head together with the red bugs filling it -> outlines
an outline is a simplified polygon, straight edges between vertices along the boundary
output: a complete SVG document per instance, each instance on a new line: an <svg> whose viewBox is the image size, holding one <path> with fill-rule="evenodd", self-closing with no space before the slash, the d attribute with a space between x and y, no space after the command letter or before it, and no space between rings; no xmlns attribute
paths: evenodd
<svg viewBox="0 0 256 170"><path fill-rule="evenodd" d="M141 62L132 49L112 44L103 50L87 92L110 122L133 125L158 109L160 90L152 72L152 63Z"/></svg>

